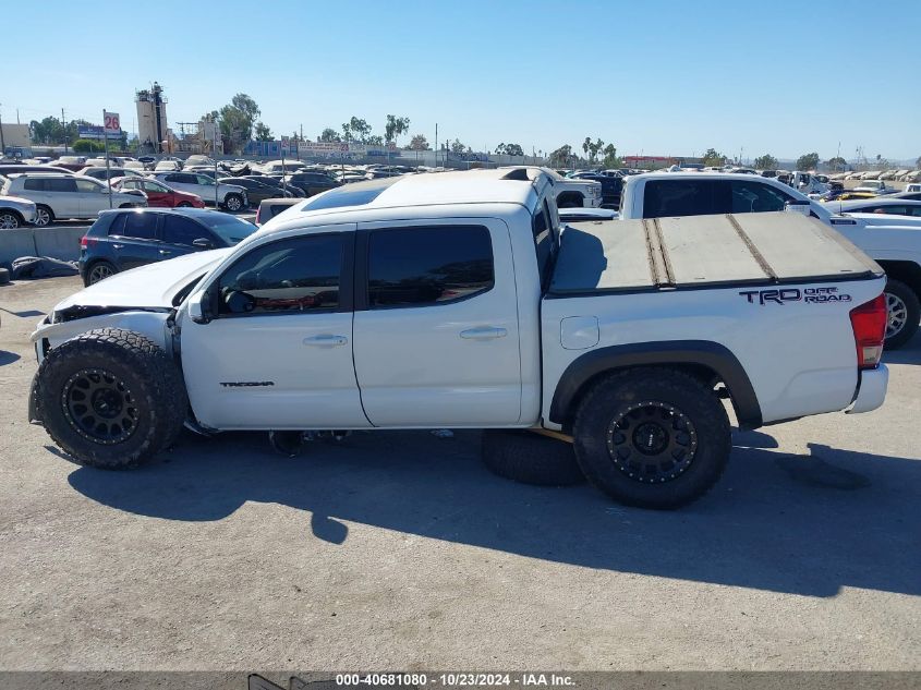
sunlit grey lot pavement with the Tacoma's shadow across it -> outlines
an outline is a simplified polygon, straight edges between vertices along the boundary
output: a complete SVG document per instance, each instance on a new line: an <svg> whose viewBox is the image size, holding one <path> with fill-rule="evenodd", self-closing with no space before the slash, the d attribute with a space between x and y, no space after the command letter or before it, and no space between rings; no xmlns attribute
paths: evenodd
<svg viewBox="0 0 921 690"><path fill-rule="evenodd" d="M497 479L475 432L80 468L26 423L28 332L78 289L0 288L4 669L921 669L921 336L882 410L737 433L654 512Z"/></svg>

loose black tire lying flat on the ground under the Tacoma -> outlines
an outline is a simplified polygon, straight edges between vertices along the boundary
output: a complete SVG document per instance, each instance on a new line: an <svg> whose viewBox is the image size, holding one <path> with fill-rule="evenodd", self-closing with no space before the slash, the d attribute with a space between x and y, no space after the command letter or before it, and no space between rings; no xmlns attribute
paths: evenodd
<svg viewBox="0 0 921 690"><path fill-rule="evenodd" d="M485 429L483 464L507 480L537 486L571 486L585 481L572 444L526 431Z"/></svg>

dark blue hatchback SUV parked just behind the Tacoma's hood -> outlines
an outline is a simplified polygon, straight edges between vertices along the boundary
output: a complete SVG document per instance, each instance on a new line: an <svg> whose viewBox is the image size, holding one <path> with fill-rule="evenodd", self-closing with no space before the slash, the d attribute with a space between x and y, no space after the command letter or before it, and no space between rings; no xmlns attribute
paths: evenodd
<svg viewBox="0 0 921 690"><path fill-rule="evenodd" d="M92 286L144 264L233 246L255 231L251 222L205 208L105 210L80 241L80 276Z"/></svg>

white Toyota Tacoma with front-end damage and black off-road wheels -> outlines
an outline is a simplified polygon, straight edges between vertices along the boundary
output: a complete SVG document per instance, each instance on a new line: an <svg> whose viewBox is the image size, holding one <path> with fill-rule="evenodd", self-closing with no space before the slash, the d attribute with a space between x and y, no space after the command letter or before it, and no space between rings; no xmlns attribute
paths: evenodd
<svg viewBox="0 0 921 690"><path fill-rule="evenodd" d="M99 468L184 423L542 429L609 496L667 508L723 473L720 398L752 428L882 404L885 278L834 231L765 214L561 232L554 194L526 170L350 184L98 282L33 335L29 419ZM484 451L497 435L525 436Z"/></svg>

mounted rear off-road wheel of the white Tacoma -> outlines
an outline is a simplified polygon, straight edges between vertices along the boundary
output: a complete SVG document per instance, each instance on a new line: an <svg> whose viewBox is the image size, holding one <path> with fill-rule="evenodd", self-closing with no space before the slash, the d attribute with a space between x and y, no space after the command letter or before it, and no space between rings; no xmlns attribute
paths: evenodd
<svg viewBox="0 0 921 690"><path fill-rule="evenodd" d="M626 433L618 423L627 425ZM638 444L649 424L675 439L666 443L666 455L678 440L693 451L656 464L663 456L644 455ZM652 509L678 508L703 496L722 476L731 450L729 419L712 388L658 367L626 370L595 384L579 404L573 437L575 458L592 484L621 504Z"/></svg>

